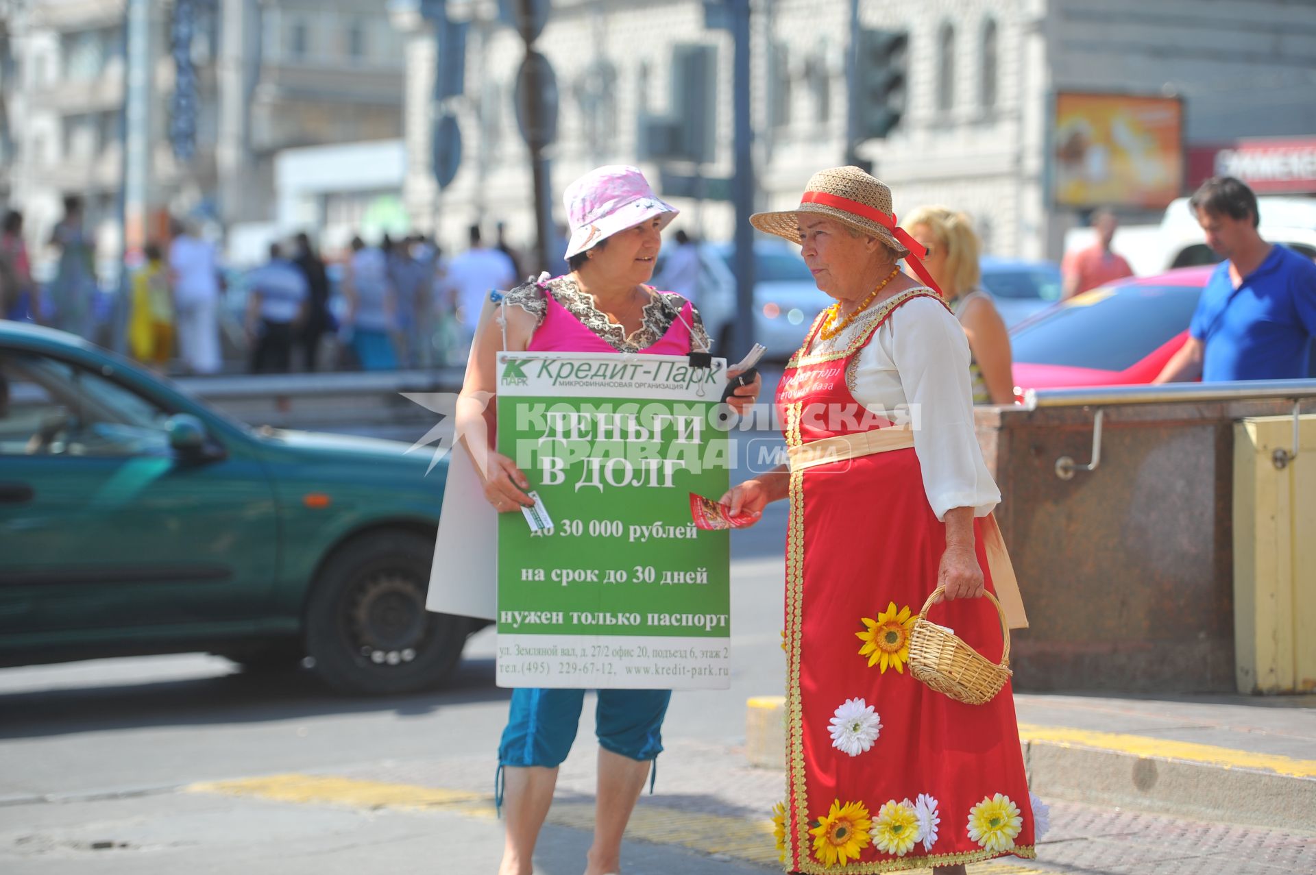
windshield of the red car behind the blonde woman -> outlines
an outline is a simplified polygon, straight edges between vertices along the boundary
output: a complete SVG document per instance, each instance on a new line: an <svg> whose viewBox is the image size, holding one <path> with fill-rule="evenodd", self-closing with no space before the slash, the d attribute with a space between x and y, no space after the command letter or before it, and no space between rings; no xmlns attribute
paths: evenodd
<svg viewBox="0 0 1316 875"><path fill-rule="evenodd" d="M1029 364L1123 371L1187 329L1200 293L1186 286L1095 288L1016 329L1011 353Z"/></svg>

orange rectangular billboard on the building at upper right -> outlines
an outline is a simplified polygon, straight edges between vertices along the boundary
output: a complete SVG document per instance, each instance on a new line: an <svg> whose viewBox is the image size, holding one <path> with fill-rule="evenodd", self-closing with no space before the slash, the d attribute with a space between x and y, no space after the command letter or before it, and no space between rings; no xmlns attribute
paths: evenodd
<svg viewBox="0 0 1316 875"><path fill-rule="evenodd" d="M1178 97L1061 92L1053 143L1058 205L1162 208L1183 187Z"/></svg>

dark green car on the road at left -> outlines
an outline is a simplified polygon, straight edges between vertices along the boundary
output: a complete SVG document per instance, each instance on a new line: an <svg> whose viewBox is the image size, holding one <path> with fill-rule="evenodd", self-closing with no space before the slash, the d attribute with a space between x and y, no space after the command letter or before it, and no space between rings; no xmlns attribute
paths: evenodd
<svg viewBox="0 0 1316 875"><path fill-rule="evenodd" d="M253 430L0 321L0 666L211 651L434 687L476 624L425 611L446 467L405 449Z"/></svg>

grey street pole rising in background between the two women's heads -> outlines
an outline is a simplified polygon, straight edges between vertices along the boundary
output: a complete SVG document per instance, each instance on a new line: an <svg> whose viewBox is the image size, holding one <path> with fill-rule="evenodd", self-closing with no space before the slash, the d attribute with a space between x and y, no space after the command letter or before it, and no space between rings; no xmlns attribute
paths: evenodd
<svg viewBox="0 0 1316 875"><path fill-rule="evenodd" d="M732 322L732 349L719 350L737 362L754 343L754 132L750 126L750 0L732 0L734 86L734 153L732 204L736 209L736 321Z"/></svg>

